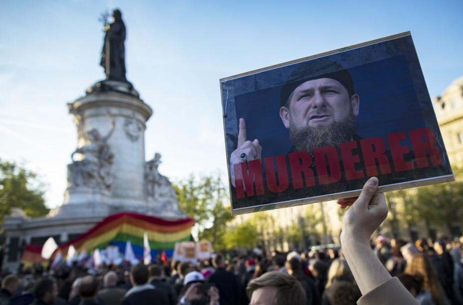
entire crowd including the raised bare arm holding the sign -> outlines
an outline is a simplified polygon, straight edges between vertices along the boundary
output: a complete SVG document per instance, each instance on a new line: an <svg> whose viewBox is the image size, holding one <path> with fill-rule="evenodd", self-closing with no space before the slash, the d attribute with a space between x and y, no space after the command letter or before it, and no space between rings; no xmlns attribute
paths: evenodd
<svg viewBox="0 0 463 305"><path fill-rule="evenodd" d="M463 304L463 240L411 243L379 236L371 242L387 207L374 192L362 196L339 202L353 203L343 222L342 248L219 252L196 263L97 270L36 265L1 273L0 305Z"/></svg>

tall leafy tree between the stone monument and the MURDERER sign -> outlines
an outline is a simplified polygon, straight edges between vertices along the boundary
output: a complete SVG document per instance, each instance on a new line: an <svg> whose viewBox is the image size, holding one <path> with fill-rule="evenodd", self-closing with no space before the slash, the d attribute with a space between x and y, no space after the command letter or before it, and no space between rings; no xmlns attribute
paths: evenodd
<svg viewBox="0 0 463 305"><path fill-rule="evenodd" d="M174 184L179 208L193 217L198 238L210 240L213 247L224 247L227 222L232 220L228 194L220 175L195 177Z"/></svg>

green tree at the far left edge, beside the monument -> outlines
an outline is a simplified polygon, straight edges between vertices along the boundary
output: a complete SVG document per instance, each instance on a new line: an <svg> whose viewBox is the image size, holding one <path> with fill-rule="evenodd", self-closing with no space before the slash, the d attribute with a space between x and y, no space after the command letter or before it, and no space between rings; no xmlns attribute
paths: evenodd
<svg viewBox="0 0 463 305"><path fill-rule="evenodd" d="M12 207L22 208L31 217L46 215L48 208L43 199L44 189L37 174L15 163L0 160L0 222Z"/></svg>

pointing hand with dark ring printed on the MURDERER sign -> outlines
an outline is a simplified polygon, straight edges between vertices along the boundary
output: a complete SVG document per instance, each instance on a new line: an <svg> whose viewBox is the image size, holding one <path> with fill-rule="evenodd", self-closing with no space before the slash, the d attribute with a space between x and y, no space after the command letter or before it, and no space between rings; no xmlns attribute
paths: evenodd
<svg viewBox="0 0 463 305"><path fill-rule="evenodd" d="M246 134L246 122L244 118L239 119L238 126L238 143L236 149L230 156L230 173L232 176L232 185L234 185L234 164L249 162L252 160L260 159L262 152L262 146L259 144L259 140L254 139L253 141L247 140Z"/></svg>

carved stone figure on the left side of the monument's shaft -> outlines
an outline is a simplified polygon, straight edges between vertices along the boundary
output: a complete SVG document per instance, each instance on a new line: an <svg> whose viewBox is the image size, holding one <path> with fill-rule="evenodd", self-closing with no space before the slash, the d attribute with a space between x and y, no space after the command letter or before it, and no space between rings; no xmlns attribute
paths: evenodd
<svg viewBox="0 0 463 305"><path fill-rule="evenodd" d="M105 137L102 137L95 128L86 133L88 144L71 154L72 163L68 165L68 187L111 189L114 154L108 145L108 139L113 134L114 128L113 120L111 131ZM80 154L82 159L74 160L75 154Z"/></svg>

